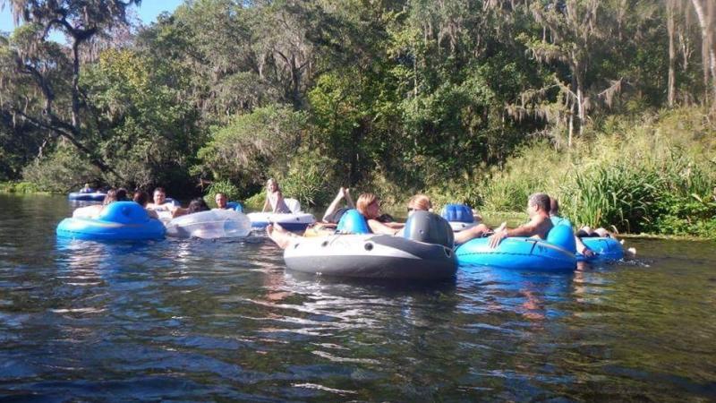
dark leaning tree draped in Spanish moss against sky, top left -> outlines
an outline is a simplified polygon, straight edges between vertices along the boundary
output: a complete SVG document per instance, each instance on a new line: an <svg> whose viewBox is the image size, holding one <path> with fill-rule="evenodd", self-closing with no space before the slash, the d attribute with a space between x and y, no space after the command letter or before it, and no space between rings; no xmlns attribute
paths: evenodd
<svg viewBox="0 0 716 403"><path fill-rule="evenodd" d="M0 5L10 5L16 23L24 21L28 26L22 35L17 35L20 40L5 48L4 56L13 60L15 76L30 77L44 100L44 105L34 110L13 101L3 104L3 108L69 141L102 172L115 176L119 175L98 156L91 145L91 133L83 125L81 114L87 99L80 87L81 47L102 30L126 24L127 7L140 3L141 0L0 0ZM69 57L59 55L62 52L47 44L50 30L64 32L71 49ZM69 72L64 70L67 68ZM66 78L70 81L64 82ZM62 85L69 85L67 106L55 102Z"/></svg>

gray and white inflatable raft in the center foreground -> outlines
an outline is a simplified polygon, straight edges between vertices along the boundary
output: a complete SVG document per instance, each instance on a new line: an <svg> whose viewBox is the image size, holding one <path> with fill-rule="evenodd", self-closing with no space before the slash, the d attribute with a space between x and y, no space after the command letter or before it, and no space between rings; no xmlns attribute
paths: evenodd
<svg viewBox="0 0 716 403"><path fill-rule="evenodd" d="M447 246L373 234L302 238L284 259L290 270L362 279L450 279L457 270Z"/></svg>

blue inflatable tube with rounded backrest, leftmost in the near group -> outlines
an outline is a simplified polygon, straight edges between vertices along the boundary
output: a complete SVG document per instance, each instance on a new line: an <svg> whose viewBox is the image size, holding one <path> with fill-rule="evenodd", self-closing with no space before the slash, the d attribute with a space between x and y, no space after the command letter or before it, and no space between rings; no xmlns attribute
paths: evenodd
<svg viewBox="0 0 716 403"><path fill-rule="evenodd" d="M57 225L58 237L94 241L133 241L163 238L164 224L150 219L134 201L108 204L98 219L63 219Z"/></svg>

